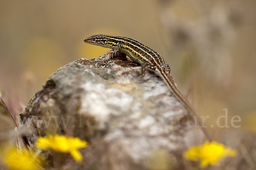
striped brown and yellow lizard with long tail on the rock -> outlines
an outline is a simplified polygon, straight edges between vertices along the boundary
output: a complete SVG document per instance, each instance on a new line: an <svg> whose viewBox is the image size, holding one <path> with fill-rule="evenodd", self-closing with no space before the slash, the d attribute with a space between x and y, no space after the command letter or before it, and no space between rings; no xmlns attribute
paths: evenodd
<svg viewBox="0 0 256 170"><path fill-rule="evenodd" d="M195 109L189 104L188 100L180 93L175 84L175 80L171 75L170 66L165 63L163 57L153 49L143 45L141 42L128 37L119 37L114 35L96 34L84 39L84 42L92 45L98 45L113 50L112 55L117 52L126 54L129 61L137 62L141 65L140 77L143 77L147 70L153 71L163 79L172 94L181 102L187 111L197 117L197 123L207 136L209 141L212 141L207 127L203 124L196 113ZM139 77L139 79L140 79Z"/></svg>

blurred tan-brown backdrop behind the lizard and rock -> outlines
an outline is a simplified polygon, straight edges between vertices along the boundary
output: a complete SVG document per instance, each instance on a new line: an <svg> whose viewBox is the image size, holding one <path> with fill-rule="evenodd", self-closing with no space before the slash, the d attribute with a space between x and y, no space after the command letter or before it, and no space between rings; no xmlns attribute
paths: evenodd
<svg viewBox="0 0 256 170"><path fill-rule="evenodd" d="M254 134L255 7L255 0L0 0L1 95L26 105L61 66L109 50L84 38L119 35L163 56L180 91L210 116L205 124L215 138L233 130ZM225 108L228 125L238 115L240 128L215 128Z"/></svg>

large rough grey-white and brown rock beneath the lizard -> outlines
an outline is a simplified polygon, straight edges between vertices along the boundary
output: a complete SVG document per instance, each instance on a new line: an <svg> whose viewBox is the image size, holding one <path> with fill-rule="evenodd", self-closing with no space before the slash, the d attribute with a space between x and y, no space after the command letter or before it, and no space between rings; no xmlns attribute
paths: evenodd
<svg viewBox="0 0 256 170"><path fill-rule="evenodd" d="M139 65L111 54L70 62L49 77L20 113L26 142L36 149L38 136L48 133L89 142L80 162L66 154L57 164L44 151L48 168L186 169L183 151L204 141L201 130L189 127L193 119L160 77L147 72L139 80Z"/></svg>

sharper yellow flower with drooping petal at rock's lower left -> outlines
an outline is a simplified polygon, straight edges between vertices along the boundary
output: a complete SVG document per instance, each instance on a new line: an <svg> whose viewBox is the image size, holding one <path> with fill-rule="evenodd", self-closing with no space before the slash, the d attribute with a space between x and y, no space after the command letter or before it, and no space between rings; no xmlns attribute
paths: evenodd
<svg viewBox="0 0 256 170"><path fill-rule="evenodd" d="M88 143L78 137L52 136L52 134L49 134L47 137L39 137L36 143L36 147L41 149L52 149L56 152L70 153L77 161L81 161L83 158L78 149L87 146Z"/></svg>

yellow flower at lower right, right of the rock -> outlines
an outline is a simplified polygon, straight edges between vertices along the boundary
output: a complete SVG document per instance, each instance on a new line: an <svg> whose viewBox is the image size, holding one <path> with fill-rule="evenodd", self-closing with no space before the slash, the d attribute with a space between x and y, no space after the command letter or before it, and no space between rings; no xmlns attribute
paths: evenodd
<svg viewBox="0 0 256 170"><path fill-rule="evenodd" d="M201 160L201 166L207 167L209 164L218 164L218 162L226 156L236 156L236 150L225 147L217 142L205 142L198 147L190 147L184 157L196 161Z"/></svg>

